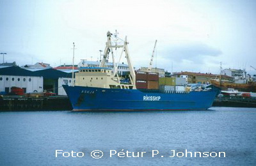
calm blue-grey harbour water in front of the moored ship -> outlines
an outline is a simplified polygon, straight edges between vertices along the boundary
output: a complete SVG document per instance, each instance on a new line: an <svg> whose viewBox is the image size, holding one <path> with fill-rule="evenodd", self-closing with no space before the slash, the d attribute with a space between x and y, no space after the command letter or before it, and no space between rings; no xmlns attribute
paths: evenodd
<svg viewBox="0 0 256 166"><path fill-rule="evenodd" d="M0 112L0 142L0 165L256 165L256 109Z"/></svg>

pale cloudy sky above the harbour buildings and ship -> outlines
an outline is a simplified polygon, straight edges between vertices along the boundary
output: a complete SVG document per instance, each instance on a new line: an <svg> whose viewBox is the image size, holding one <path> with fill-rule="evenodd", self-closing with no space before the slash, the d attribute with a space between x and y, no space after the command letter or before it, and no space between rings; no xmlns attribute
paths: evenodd
<svg viewBox="0 0 256 166"><path fill-rule="evenodd" d="M136 68L154 65L170 71L211 72L246 68L256 73L256 1L12 1L0 2L0 52L19 65L58 66L97 60L106 32L127 35ZM0 57L2 62L3 57Z"/></svg>

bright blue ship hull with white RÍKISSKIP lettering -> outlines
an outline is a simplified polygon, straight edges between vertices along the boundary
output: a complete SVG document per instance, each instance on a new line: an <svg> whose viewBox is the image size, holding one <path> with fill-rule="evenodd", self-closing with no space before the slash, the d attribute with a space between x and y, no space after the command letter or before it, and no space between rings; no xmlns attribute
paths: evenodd
<svg viewBox="0 0 256 166"><path fill-rule="evenodd" d="M206 110L218 93L157 93L138 89L105 89L99 87L63 86L74 111L133 110Z"/></svg>

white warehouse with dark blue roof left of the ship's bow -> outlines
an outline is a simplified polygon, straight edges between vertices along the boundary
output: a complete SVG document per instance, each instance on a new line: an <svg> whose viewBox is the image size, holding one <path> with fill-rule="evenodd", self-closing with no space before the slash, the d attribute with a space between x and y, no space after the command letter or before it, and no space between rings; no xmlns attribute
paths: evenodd
<svg viewBox="0 0 256 166"><path fill-rule="evenodd" d="M0 92L10 93L11 87L20 87L24 93L51 91L58 95L67 95L63 84L72 85L72 73L65 73L52 68L35 72L17 66L1 66Z"/></svg>

